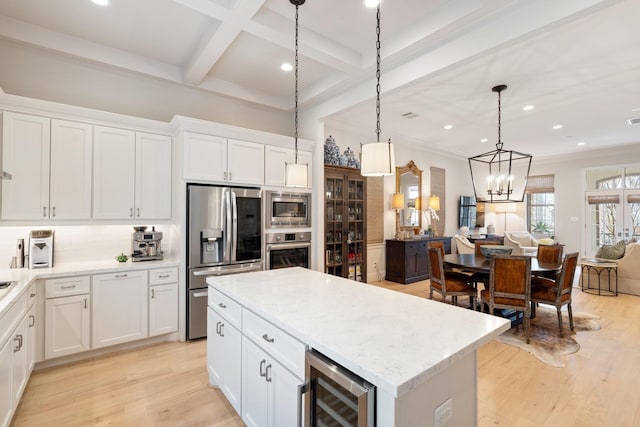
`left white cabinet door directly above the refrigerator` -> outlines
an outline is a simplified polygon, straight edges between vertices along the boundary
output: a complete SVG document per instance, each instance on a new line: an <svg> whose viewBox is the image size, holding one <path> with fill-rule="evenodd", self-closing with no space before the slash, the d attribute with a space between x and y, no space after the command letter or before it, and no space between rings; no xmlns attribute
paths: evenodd
<svg viewBox="0 0 640 427"><path fill-rule="evenodd" d="M184 179L198 181L227 180L227 140L212 135L183 134Z"/></svg>

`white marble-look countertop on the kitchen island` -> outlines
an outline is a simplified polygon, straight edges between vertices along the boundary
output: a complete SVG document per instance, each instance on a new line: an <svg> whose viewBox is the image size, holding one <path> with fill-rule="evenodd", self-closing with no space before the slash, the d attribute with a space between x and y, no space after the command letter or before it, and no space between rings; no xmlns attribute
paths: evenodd
<svg viewBox="0 0 640 427"><path fill-rule="evenodd" d="M507 319L301 267L207 283L395 397L510 327Z"/></svg>

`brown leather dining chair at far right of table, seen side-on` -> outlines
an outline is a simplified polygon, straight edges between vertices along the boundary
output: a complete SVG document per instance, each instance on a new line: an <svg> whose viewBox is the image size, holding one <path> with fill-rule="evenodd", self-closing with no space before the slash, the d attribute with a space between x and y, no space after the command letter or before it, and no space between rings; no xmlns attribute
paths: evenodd
<svg viewBox="0 0 640 427"><path fill-rule="evenodd" d="M578 265L578 253L573 252L564 257L562 270L556 279L547 277L533 277L531 279L531 304L543 303L555 305L558 312L558 327L562 336L562 306L567 306L569 312L569 327L573 331L573 311L571 310L571 290L573 278Z"/></svg>

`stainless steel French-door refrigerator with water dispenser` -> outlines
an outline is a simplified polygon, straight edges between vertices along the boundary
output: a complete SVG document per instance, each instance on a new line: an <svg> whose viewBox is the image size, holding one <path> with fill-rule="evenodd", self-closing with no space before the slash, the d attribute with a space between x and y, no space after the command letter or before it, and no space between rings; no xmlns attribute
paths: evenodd
<svg viewBox="0 0 640 427"><path fill-rule="evenodd" d="M207 336L208 276L262 270L262 190L187 185L187 339Z"/></svg>

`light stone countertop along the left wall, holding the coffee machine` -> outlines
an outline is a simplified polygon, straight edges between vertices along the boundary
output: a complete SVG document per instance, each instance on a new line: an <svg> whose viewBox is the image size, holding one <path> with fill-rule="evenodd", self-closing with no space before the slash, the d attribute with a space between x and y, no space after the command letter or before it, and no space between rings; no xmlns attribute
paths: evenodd
<svg viewBox="0 0 640 427"><path fill-rule="evenodd" d="M16 281L8 289L0 289L0 317L13 302L37 279L56 277L86 276L91 274L116 273L118 271L148 270L152 268L175 267L180 265L177 259L160 261L117 262L99 260L87 262L68 262L54 264L52 268L0 268L0 280Z"/></svg>

